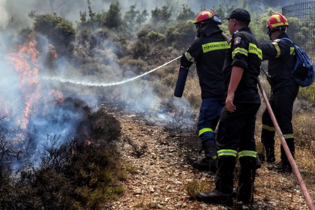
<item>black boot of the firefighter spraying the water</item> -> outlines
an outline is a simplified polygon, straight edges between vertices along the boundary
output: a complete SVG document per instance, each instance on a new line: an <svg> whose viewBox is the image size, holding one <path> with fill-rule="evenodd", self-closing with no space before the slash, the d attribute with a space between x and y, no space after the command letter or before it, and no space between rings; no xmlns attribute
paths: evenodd
<svg viewBox="0 0 315 210"><path fill-rule="evenodd" d="M205 158L201 161L197 160L192 163L193 167L198 170L211 171L216 173L218 160L213 159L217 156L215 141L207 141L202 143L202 148L205 150Z"/></svg>

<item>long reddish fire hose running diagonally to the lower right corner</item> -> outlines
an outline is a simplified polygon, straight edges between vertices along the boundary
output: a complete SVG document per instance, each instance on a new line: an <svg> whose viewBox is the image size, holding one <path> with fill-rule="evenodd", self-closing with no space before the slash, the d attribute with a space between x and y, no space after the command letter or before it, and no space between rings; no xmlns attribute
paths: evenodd
<svg viewBox="0 0 315 210"><path fill-rule="evenodd" d="M287 156L287 158L289 160L289 163L290 163L290 165L292 167L292 171L293 171L293 173L294 173L294 175L295 175L295 177L296 177L296 179L297 179L297 181L298 181L298 183L299 183L299 185L301 187L304 199L305 199L309 209L310 210L315 210L315 206L313 204L311 195L310 195L310 193L309 193L309 191L308 191L308 189L307 189L307 187L305 185L304 180L302 179L301 173L300 173L299 169L297 168L297 165L296 165L296 163L294 161L294 158L293 158L293 156L292 156L292 154L291 154L291 152L290 152L290 150L289 150L289 148L288 148L288 146L287 146L287 144L285 142L284 135L282 134L282 131L281 131L280 127L279 127L279 124L278 124L278 122L276 120L276 117L275 117L275 115L274 115L274 113L272 111L272 108L270 106L270 103L268 101L268 98L267 98L267 95L265 93L265 90L263 89L259 79L258 79L258 86L259 86L259 89L261 91L262 97L263 97L263 99L264 99L264 101L266 103L266 106L267 106L270 118L271 118L271 120L272 120L272 122L273 122L273 124L274 124L274 126L276 128L276 132L277 132L277 134L279 136L281 145L283 146L284 152L285 152L285 154L286 154L286 156Z"/></svg>

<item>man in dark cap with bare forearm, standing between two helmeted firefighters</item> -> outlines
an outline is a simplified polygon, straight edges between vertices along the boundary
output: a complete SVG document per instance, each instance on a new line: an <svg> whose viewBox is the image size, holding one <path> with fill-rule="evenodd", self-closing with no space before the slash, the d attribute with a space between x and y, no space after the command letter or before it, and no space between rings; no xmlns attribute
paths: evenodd
<svg viewBox="0 0 315 210"><path fill-rule="evenodd" d="M232 39L222 70L226 100L217 134L216 187L211 192L198 193L197 198L207 202L231 201L238 156L241 168L237 199L252 203L257 167L254 130L260 107L257 81L262 52L249 28L251 16L248 11L235 9L224 19L228 20Z"/></svg>

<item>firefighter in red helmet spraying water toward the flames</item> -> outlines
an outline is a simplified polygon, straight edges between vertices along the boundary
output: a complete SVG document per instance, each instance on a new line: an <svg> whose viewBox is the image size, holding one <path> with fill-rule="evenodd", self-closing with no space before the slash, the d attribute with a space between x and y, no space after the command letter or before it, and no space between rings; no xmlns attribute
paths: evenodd
<svg viewBox="0 0 315 210"><path fill-rule="evenodd" d="M201 12L194 22L197 39L183 54L174 95L182 97L189 67L195 63L201 88L202 103L197 125L205 158L193 162L199 170L216 172L217 150L215 129L224 106L222 67L229 45L222 35L220 17L210 10Z"/></svg>

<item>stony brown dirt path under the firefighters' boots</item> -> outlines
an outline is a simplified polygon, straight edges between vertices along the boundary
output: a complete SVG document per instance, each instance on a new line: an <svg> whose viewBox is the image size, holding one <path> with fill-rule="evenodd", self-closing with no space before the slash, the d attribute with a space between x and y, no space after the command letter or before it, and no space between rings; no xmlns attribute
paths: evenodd
<svg viewBox="0 0 315 210"><path fill-rule="evenodd" d="M294 176L269 171L266 164L257 171L255 201L252 205L237 201L232 206L198 202L190 195L199 189L213 189L215 175L197 171L190 164L198 157L200 149L196 134L170 136L162 125L139 116L117 110L113 110L112 114L121 122L122 141L119 148L130 177L124 183L124 196L108 209L308 209ZM310 190L314 197L315 189Z"/></svg>

